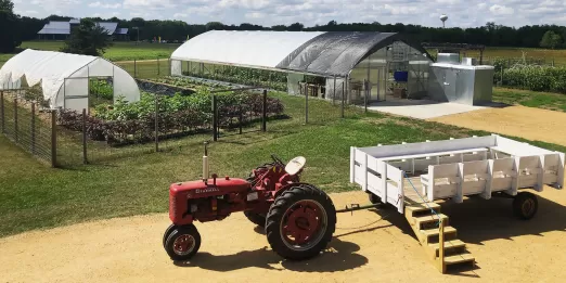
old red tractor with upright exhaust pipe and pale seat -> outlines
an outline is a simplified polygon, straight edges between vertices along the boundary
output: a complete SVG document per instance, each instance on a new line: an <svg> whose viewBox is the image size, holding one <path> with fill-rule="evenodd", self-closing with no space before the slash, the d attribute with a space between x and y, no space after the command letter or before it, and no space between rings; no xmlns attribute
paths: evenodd
<svg viewBox="0 0 566 283"><path fill-rule="evenodd" d="M271 248L292 260L311 258L332 239L336 210L331 198L312 184L299 181L306 159L287 165L271 155L272 163L259 166L247 179L208 178L205 143L203 179L173 183L169 188L169 218L163 245L172 260L188 260L201 247L194 221L223 220L243 211L266 231Z"/></svg>

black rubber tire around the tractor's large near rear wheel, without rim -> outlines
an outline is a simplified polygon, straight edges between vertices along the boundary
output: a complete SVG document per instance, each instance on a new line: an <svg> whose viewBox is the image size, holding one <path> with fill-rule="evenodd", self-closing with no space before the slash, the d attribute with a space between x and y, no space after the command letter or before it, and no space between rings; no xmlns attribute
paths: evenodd
<svg viewBox="0 0 566 283"><path fill-rule="evenodd" d="M326 209L327 228L324 236L313 248L297 252L290 249L283 243L283 240L280 235L280 222L283 218L283 214L288 208L288 206L303 200L318 201L324 207L324 209ZM283 192L280 196L278 196L278 198L269 209L267 216L266 233L271 248L283 258L290 260L304 260L317 256L322 249L324 249L327 246L327 244L332 240L332 235L334 234L335 230L336 209L332 200L329 197L326 193L309 184L299 184Z"/></svg>

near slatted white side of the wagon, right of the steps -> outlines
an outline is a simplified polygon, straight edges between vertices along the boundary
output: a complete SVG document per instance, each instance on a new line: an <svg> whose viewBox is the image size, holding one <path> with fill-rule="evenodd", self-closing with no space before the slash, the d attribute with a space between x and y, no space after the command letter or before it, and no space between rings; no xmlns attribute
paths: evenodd
<svg viewBox="0 0 566 283"><path fill-rule="evenodd" d="M542 192L545 184L563 186L564 153L430 165L421 180L428 201L461 203L475 194L489 200L494 192L514 196L520 189Z"/></svg>

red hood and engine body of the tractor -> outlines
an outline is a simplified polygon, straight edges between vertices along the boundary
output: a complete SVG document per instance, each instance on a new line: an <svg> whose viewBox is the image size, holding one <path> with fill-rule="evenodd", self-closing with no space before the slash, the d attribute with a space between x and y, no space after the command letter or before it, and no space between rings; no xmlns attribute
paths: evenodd
<svg viewBox="0 0 566 283"><path fill-rule="evenodd" d="M175 183L169 188L169 218L176 224L222 220L244 210L250 184L226 177Z"/></svg>

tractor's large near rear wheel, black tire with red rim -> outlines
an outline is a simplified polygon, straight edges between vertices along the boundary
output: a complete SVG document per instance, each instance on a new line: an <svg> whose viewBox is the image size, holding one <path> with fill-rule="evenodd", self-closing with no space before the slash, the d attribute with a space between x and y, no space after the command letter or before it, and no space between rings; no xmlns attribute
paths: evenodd
<svg viewBox="0 0 566 283"><path fill-rule="evenodd" d="M336 209L323 191L298 184L275 198L266 222L271 248L285 259L303 260L326 248L336 229Z"/></svg>

